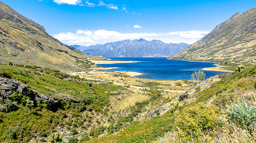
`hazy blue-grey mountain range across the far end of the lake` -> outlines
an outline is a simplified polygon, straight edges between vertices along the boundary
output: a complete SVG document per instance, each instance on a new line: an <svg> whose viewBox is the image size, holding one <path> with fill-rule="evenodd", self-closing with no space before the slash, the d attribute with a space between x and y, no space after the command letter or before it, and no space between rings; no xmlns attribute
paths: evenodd
<svg viewBox="0 0 256 143"><path fill-rule="evenodd" d="M159 40L124 40L104 45L75 46L89 55L103 57L168 57L189 46L187 43L164 43Z"/></svg>

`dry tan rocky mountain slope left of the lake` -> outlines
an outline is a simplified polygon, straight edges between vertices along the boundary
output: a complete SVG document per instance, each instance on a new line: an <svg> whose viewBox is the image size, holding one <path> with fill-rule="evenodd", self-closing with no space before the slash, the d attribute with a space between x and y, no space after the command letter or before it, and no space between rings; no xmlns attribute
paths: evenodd
<svg viewBox="0 0 256 143"><path fill-rule="evenodd" d="M83 68L79 64L89 67L88 58L94 57L64 45L48 35L43 26L0 1L1 63L79 70Z"/></svg>

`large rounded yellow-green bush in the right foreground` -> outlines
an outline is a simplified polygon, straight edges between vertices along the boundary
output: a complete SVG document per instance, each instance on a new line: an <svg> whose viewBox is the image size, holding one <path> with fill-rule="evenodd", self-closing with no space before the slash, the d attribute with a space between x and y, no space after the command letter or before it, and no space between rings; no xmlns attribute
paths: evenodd
<svg viewBox="0 0 256 143"><path fill-rule="evenodd" d="M216 128L218 113L212 107L200 102L192 107L184 108L177 116L175 128L180 130L181 140L191 141L198 138L201 133L207 133Z"/></svg>

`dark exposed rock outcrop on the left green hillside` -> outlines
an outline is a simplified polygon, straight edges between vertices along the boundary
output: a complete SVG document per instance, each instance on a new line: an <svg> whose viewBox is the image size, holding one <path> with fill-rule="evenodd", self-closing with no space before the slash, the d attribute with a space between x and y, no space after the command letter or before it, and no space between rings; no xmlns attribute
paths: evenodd
<svg viewBox="0 0 256 143"><path fill-rule="evenodd" d="M59 105L61 105L59 98L62 100L69 100L74 103L84 102L80 98L66 94L56 94L54 97L47 97L37 91L34 91L33 89L29 88L29 86L26 86L17 80L6 79L3 77L0 77L0 91L0 104L3 103L4 100L10 100L10 95L13 94L13 92L21 93L22 95L31 97L31 100L35 103L36 101L39 101L41 103L47 104L47 108L49 110L55 110ZM0 105L0 111L7 112L9 110L3 105Z"/></svg>

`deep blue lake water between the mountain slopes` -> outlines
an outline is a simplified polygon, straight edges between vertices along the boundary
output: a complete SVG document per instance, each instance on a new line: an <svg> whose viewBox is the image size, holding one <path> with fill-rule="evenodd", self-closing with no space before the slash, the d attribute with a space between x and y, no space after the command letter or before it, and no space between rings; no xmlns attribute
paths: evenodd
<svg viewBox="0 0 256 143"><path fill-rule="evenodd" d="M216 67L215 63L167 60L166 57L108 57L111 60L140 61L138 63L117 63L117 64L97 64L101 67L118 67L108 71L133 71L143 73L140 76L145 79L173 79L189 80L191 74L202 70L206 73L206 78L216 74L224 74L223 71L203 70L206 67Z"/></svg>

